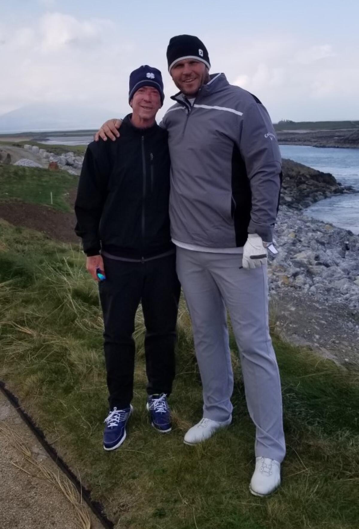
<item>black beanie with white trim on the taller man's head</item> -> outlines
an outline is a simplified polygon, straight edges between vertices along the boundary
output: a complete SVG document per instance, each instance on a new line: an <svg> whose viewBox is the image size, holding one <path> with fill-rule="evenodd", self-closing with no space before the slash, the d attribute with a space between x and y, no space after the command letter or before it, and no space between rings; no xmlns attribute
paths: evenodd
<svg viewBox="0 0 359 529"><path fill-rule="evenodd" d="M193 35L177 35L172 37L167 48L168 71L176 62L184 59L196 59L204 62L207 68L210 68L207 48L198 37Z"/></svg>

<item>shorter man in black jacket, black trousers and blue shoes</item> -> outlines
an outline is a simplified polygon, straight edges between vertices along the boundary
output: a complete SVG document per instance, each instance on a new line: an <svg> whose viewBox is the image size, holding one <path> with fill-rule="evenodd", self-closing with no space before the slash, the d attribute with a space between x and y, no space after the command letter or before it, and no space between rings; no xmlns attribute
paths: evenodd
<svg viewBox="0 0 359 529"><path fill-rule="evenodd" d="M174 378L180 285L170 238L167 132L155 122L163 103L161 72L141 66L130 76L121 138L90 143L75 204L76 233L87 269L99 281L109 391L104 449L126 437L132 413L134 320L140 302L146 334L147 409L161 433L171 430L167 397Z"/></svg>

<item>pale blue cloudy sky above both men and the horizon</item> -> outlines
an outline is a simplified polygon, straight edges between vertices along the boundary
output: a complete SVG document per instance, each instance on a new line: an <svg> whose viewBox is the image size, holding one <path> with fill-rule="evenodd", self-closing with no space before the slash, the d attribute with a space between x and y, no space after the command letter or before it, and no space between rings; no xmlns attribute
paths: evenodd
<svg viewBox="0 0 359 529"><path fill-rule="evenodd" d="M177 92L165 51L187 33L273 122L359 120L358 20L357 0L0 0L0 114L49 103L122 116L130 72L148 64L163 75L161 117Z"/></svg>

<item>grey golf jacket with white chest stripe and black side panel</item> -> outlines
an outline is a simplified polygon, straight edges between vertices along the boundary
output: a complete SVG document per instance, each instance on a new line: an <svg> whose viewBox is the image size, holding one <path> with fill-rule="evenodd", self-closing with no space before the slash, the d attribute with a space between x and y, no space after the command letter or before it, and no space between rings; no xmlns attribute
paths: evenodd
<svg viewBox="0 0 359 529"><path fill-rule="evenodd" d="M248 233L272 241L281 156L270 117L255 96L211 75L193 107L178 93L164 115L171 156L172 239L242 247Z"/></svg>

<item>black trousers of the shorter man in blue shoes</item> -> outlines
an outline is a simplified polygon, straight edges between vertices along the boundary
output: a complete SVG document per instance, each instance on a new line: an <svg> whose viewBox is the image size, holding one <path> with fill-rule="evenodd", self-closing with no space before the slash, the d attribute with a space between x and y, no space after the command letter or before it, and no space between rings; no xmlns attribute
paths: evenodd
<svg viewBox="0 0 359 529"><path fill-rule="evenodd" d="M172 390L180 284L176 256L141 262L104 257L106 280L99 283L104 313L104 350L111 409L130 406L133 397L135 314L142 302L149 395Z"/></svg>

